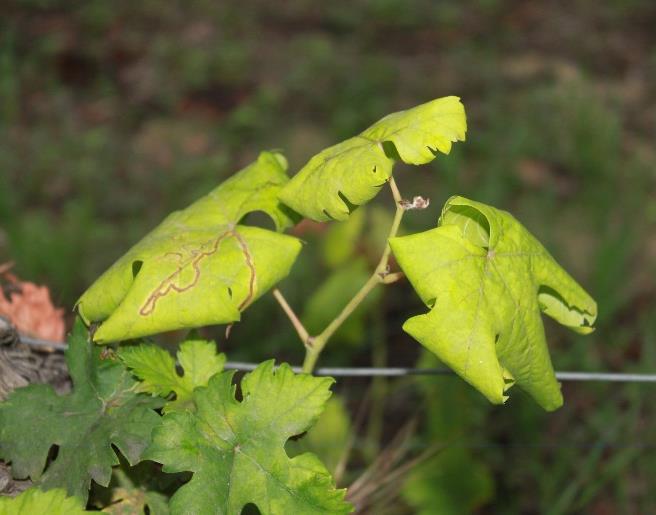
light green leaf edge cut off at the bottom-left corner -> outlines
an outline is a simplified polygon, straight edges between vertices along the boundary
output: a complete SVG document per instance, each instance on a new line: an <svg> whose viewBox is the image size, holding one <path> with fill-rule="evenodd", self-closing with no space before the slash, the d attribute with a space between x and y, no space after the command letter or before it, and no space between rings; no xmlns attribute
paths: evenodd
<svg viewBox="0 0 656 515"><path fill-rule="evenodd" d="M66 491L59 488L44 492L32 487L16 497L0 497L2 515L79 515L81 513L94 512L86 511L80 499L67 497Z"/></svg>

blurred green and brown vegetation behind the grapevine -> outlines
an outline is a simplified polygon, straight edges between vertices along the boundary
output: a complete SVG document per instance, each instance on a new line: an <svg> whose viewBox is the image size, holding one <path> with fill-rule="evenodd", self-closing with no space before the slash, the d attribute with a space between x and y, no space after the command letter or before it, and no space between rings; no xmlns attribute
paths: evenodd
<svg viewBox="0 0 656 515"><path fill-rule="evenodd" d="M547 323L556 368L656 371L653 2L10 0L0 12L0 261L59 305L259 150L283 149L297 170L388 112L457 94L468 141L397 174L432 201L408 227L433 226L455 193L512 211L599 302L590 337ZM296 229L307 245L281 289L310 328L365 280L388 213L385 193L349 225ZM322 362L429 366L400 329L421 309L407 285L380 292ZM227 341L206 334L231 359L302 360L271 298ZM453 378L337 390L325 425L358 434L343 485L392 460L418 415L409 455L445 446L393 482L393 503L370 480L375 513L656 510L653 386L565 384L552 415L519 392L488 406ZM340 448L315 440L339 467Z"/></svg>

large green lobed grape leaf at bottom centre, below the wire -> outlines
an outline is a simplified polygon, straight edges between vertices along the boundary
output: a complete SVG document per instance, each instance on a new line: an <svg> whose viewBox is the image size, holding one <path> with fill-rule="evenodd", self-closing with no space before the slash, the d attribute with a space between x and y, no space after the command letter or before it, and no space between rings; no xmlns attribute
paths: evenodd
<svg viewBox="0 0 656 515"><path fill-rule="evenodd" d="M345 490L335 489L316 456L285 453L287 440L319 417L333 380L267 361L244 376L238 402L233 375L194 390L196 412L168 413L153 433L149 459L165 472L193 472L171 498L171 512L233 514L253 503L263 515L349 513Z"/></svg>

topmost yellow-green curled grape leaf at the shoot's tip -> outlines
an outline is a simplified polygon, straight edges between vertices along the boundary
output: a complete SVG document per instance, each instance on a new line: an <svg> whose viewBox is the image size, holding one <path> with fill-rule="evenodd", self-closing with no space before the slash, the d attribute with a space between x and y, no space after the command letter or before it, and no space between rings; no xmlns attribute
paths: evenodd
<svg viewBox="0 0 656 515"><path fill-rule="evenodd" d="M280 192L295 211L317 221L346 220L353 206L376 196L394 159L420 165L464 141L465 109L458 97L438 98L392 113L358 136L312 157Z"/></svg>

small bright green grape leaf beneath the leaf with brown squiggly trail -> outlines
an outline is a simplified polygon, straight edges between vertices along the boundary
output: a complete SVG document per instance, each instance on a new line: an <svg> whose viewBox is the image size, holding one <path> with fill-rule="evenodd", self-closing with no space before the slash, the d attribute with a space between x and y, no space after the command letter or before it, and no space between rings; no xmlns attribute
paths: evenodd
<svg viewBox="0 0 656 515"><path fill-rule="evenodd" d="M121 347L118 355L141 380L139 391L161 397L168 397L171 392L175 394L175 399L164 405L164 413L192 408L194 388L207 386L210 378L223 370L226 361L225 354L216 353L214 342L203 340L187 340L180 344L177 358L183 375L178 374L173 357L157 345Z"/></svg>

